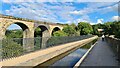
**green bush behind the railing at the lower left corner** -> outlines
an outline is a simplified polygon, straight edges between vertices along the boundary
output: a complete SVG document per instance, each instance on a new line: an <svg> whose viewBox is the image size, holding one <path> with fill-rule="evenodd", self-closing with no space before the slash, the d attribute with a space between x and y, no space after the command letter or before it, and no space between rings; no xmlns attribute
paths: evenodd
<svg viewBox="0 0 120 68"><path fill-rule="evenodd" d="M23 47L11 39L2 41L2 58L16 57L23 53Z"/></svg>

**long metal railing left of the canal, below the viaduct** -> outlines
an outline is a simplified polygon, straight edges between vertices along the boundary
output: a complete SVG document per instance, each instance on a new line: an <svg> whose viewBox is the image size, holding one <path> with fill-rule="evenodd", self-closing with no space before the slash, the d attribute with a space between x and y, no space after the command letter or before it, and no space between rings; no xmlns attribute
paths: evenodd
<svg viewBox="0 0 120 68"><path fill-rule="evenodd" d="M36 37L36 38L12 38L2 39L0 48L0 54L2 60L18 57L30 52L34 52L40 49L45 49L59 44L65 44L82 39L93 37L92 35L84 36L72 36L72 37ZM46 41L44 41L44 40ZM33 44L31 44L33 42Z"/></svg>

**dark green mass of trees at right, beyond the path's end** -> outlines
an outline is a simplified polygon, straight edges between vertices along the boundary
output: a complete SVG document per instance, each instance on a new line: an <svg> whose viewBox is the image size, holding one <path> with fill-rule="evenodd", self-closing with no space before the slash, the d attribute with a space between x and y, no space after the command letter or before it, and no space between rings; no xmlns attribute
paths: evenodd
<svg viewBox="0 0 120 68"><path fill-rule="evenodd" d="M116 38L120 38L120 21L106 22L104 24L93 25L93 34L101 35L97 29L104 29L106 35L115 35Z"/></svg>

